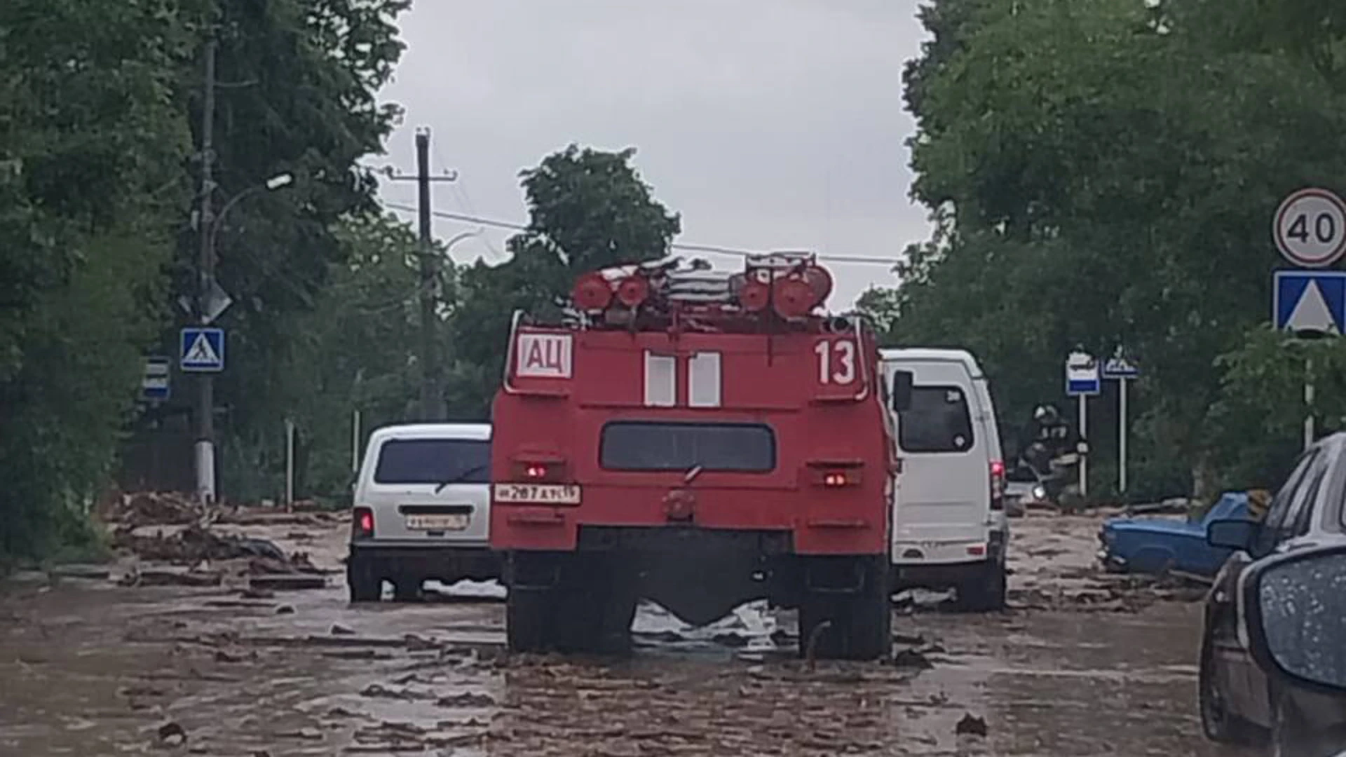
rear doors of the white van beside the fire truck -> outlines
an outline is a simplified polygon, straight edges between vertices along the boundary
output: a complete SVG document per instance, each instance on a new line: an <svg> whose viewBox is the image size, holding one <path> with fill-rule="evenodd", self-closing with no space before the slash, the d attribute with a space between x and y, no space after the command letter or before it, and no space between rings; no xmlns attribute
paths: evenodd
<svg viewBox="0 0 1346 757"><path fill-rule="evenodd" d="M913 369L911 407L898 418L903 471L894 540L921 543L926 562L966 562L961 543L987 540L991 512L989 438L973 378L961 362L899 364ZM938 544L950 546L941 548ZM960 544L949 544L960 543ZM895 558L902 558L898 551Z"/></svg>

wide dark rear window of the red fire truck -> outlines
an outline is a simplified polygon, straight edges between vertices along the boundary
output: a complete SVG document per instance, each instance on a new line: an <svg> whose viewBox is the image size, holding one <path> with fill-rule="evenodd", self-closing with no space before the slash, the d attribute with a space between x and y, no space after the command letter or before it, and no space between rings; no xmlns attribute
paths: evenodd
<svg viewBox="0 0 1346 757"><path fill-rule="evenodd" d="M599 465L607 470L775 469L775 432L762 423L657 423L603 426Z"/></svg>

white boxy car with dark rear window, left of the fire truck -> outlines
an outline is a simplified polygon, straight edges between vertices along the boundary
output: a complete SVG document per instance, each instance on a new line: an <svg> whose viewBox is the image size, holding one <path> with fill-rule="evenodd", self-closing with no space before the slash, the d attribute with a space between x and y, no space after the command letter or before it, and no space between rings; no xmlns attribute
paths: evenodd
<svg viewBox="0 0 1346 757"><path fill-rule="evenodd" d="M499 578L490 550L489 423L385 426L369 436L355 481L346 585L351 602L397 599L444 583Z"/></svg>

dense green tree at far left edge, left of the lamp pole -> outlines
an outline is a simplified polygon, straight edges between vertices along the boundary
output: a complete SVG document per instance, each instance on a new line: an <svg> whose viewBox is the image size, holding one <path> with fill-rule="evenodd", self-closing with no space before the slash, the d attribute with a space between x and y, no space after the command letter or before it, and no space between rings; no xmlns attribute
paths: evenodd
<svg viewBox="0 0 1346 757"><path fill-rule="evenodd" d="M0 4L0 558L90 537L171 260L190 44L159 1Z"/></svg>

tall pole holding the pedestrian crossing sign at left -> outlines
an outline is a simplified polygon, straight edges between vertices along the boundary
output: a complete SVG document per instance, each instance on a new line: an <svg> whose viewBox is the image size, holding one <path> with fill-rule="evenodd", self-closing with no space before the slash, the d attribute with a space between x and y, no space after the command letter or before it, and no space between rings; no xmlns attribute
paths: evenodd
<svg viewBox="0 0 1346 757"><path fill-rule="evenodd" d="M215 279L215 255L211 249L211 230L215 222L211 197L215 190L215 32L206 40L206 84L201 113L201 259L198 261L197 319L210 322L210 295ZM197 395L197 496L202 504L215 501L215 381L210 373L198 376Z"/></svg>

